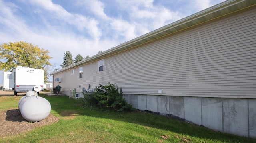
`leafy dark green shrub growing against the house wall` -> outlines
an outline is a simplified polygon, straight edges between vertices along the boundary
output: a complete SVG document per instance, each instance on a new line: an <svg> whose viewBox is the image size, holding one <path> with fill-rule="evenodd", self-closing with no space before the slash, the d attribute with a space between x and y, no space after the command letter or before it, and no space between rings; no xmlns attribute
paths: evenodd
<svg viewBox="0 0 256 143"><path fill-rule="evenodd" d="M122 97L122 88L118 91L118 86L110 84L103 86L99 84L94 88L91 94L84 94L84 101L92 106L97 106L103 109L113 109L117 111L131 111L134 110L131 104L128 104Z"/></svg>

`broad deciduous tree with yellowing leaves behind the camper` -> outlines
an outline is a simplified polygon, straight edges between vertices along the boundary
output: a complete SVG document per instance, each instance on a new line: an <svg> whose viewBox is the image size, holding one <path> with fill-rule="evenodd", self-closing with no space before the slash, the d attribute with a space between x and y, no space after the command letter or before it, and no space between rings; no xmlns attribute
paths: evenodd
<svg viewBox="0 0 256 143"><path fill-rule="evenodd" d="M15 67L26 66L35 69L44 69L44 81L48 80L46 67L52 57L48 50L24 41L9 42L0 45L0 70L12 71Z"/></svg>

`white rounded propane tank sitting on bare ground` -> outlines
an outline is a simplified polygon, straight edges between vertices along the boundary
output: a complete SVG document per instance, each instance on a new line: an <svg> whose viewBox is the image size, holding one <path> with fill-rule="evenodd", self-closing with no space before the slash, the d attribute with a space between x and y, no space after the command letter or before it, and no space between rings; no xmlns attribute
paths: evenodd
<svg viewBox="0 0 256 143"><path fill-rule="evenodd" d="M49 116L51 104L45 98L37 96L37 92L29 91L18 103L20 113L27 121L41 121Z"/></svg>

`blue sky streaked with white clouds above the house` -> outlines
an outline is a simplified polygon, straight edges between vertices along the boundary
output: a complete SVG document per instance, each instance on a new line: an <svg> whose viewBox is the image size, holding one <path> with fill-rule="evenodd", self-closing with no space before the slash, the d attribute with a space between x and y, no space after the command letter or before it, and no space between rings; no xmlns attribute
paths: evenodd
<svg viewBox="0 0 256 143"><path fill-rule="evenodd" d="M0 44L26 41L92 57L224 0L0 0ZM2 73L0 73L0 84Z"/></svg>

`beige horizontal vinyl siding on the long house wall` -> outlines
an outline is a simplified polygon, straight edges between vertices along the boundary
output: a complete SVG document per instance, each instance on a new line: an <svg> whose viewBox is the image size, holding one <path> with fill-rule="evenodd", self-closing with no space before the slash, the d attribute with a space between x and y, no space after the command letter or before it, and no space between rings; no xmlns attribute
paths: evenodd
<svg viewBox="0 0 256 143"><path fill-rule="evenodd" d="M62 72L64 89L111 82L124 94L256 98L256 8L248 9L106 57L102 72L98 61L83 65L82 79L78 67Z"/></svg>

